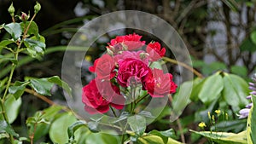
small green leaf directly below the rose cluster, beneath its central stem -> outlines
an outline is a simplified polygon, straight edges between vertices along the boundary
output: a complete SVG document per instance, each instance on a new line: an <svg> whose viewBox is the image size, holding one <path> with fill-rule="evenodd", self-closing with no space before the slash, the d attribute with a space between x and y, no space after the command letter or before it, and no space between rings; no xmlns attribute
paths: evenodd
<svg viewBox="0 0 256 144"><path fill-rule="evenodd" d="M146 119L140 115L134 115L127 118L127 123L130 125L130 128L137 135L143 135L146 130Z"/></svg>

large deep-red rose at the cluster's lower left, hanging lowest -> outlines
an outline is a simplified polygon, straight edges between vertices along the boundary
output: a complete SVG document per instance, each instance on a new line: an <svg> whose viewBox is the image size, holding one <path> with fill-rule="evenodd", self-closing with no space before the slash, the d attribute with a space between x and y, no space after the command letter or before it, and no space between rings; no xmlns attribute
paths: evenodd
<svg viewBox="0 0 256 144"><path fill-rule="evenodd" d="M93 79L82 90L84 110L90 114L108 112L109 105L117 109L124 107L124 96L120 95L119 88L109 81Z"/></svg>

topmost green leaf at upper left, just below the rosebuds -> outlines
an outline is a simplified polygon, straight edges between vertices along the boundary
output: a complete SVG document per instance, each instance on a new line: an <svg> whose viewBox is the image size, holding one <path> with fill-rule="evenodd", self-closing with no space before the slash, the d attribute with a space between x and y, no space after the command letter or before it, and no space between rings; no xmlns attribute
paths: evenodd
<svg viewBox="0 0 256 144"><path fill-rule="evenodd" d="M8 25L3 26L3 28L9 32L11 37L16 41L22 34L22 29L19 23L10 23Z"/></svg>

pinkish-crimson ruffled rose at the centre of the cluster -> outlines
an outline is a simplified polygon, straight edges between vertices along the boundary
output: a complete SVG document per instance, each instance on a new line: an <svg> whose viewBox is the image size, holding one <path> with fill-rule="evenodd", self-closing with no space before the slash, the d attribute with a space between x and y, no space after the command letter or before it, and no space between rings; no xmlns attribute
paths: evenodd
<svg viewBox="0 0 256 144"><path fill-rule="evenodd" d="M142 60L127 58L119 61L117 80L122 87L142 84L149 72L149 67Z"/></svg>

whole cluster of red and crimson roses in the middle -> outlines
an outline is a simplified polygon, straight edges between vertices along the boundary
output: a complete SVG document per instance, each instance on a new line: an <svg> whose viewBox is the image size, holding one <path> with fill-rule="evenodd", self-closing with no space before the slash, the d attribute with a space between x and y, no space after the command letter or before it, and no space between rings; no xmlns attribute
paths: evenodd
<svg viewBox="0 0 256 144"><path fill-rule="evenodd" d="M152 68L150 64L160 60L166 49L160 43L148 43L136 33L117 36L108 43L108 54L96 59L89 71L96 78L82 89L84 110L90 114L108 112L109 107L122 109L125 106L124 89L141 87L152 97L163 97L176 91L172 74Z"/></svg>

